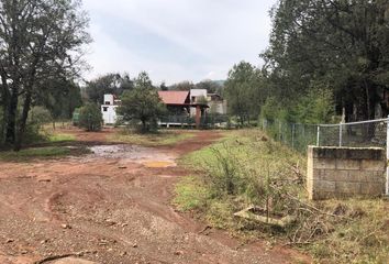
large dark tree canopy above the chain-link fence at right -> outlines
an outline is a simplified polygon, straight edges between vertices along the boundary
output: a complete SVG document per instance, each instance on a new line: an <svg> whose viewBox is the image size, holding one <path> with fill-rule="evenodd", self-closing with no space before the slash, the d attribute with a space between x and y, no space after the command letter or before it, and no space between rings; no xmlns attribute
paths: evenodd
<svg viewBox="0 0 389 264"><path fill-rule="evenodd" d="M274 96L292 105L320 86L347 120L374 119L377 105L388 114L387 10L387 1L278 1L270 46L262 54Z"/></svg>

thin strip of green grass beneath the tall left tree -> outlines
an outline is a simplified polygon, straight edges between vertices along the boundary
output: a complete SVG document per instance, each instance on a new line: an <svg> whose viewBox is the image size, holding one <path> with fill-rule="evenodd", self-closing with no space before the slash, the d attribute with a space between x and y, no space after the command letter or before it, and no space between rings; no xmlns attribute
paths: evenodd
<svg viewBox="0 0 389 264"><path fill-rule="evenodd" d="M20 152L0 152L0 160L4 161L24 161L31 158L53 158L70 155L71 150L67 147L47 146L24 148Z"/></svg>

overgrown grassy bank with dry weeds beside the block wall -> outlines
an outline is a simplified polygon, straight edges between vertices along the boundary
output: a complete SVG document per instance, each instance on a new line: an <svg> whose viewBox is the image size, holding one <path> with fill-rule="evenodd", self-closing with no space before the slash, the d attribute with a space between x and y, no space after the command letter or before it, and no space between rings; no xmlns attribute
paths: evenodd
<svg viewBox="0 0 389 264"><path fill-rule="evenodd" d="M309 201L305 162L305 156L257 130L227 132L221 142L181 160L187 167L201 167L201 176L184 178L176 186L174 202L214 228L247 241L265 239L300 249L316 263L387 263L389 204L381 199ZM296 221L276 228L233 216L251 205Z"/></svg>

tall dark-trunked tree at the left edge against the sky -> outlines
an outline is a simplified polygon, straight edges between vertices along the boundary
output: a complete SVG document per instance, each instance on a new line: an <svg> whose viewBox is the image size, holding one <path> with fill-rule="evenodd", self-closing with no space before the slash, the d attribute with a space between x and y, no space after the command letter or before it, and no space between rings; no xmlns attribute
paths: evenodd
<svg viewBox="0 0 389 264"><path fill-rule="evenodd" d="M78 0L0 1L2 135L20 150L32 99L49 78L80 74L88 18ZM18 114L18 106L21 113Z"/></svg>

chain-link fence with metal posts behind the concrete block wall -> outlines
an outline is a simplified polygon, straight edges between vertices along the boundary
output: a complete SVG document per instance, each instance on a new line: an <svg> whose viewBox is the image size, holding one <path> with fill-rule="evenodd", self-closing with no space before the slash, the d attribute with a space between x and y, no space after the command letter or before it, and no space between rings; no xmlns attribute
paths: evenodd
<svg viewBox="0 0 389 264"><path fill-rule="evenodd" d="M259 120L259 128L275 140L305 153L308 145L371 147L387 146L389 119L338 124L299 124Z"/></svg>

